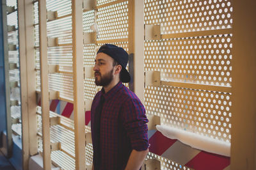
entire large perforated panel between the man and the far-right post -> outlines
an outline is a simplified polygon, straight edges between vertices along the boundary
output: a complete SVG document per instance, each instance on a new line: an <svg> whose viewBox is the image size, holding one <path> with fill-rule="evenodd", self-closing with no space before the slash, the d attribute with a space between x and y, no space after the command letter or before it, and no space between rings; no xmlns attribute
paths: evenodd
<svg viewBox="0 0 256 170"><path fill-rule="evenodd" d="M159 71L161 81L182 84L145 86L147 114L160 116L163 125L230 143L232 93L218 87L232 86L231 1L144 2L145 24L161 30L159 40L144 42L145 72ZM178 163L161 158L161 169L187 169Z"/></svg>

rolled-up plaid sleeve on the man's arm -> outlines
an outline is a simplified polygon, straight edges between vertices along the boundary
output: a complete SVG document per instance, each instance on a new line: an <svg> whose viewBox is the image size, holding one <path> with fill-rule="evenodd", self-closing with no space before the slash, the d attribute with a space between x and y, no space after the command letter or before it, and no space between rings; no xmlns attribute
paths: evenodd
<svg viewBox="0 0 256 170"><path fill-rule="evenodd" d="M147 150L148 119L143 104L137 98L128 98L122 106L120 118L131 139L132 149L136 151Z"/></svg>

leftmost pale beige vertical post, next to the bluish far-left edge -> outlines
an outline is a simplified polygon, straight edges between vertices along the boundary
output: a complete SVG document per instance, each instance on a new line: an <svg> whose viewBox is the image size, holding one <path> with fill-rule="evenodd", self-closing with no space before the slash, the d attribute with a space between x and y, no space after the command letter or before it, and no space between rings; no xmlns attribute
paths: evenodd
<svg viewBox="0 0 256 170"><path fill-rule="evenodd" d="M29 124L28 124L28 92L26 75L26 32L24 0L18 3L18 25L19 25L19 56L20 56L20 102L22 122L22 167L28 169L29 161Z"/></svg>

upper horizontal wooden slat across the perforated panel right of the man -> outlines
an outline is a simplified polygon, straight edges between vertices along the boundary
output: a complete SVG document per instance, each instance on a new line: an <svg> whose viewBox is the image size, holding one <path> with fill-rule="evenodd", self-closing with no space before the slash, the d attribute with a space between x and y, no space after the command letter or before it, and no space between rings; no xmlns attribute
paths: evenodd
<svg viewBox="0 0 256 170"><path fill-rule="evenodd" d="M168 38L182 38L182 37L195 37L195 36L210 36L210 35L226 35L231 34L232 29L214 29L214 30L207 30L207 31L194 31L188 33L173 33L170 35L161 35L161 39L168 39Z"/></svg>

